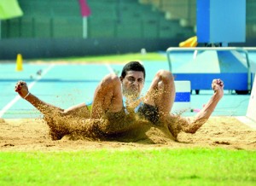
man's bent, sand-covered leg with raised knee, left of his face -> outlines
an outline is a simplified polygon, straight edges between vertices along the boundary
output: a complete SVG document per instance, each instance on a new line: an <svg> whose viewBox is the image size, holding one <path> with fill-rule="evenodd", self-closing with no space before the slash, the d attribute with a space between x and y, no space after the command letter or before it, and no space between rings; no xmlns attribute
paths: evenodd
<svg viewBox="0 0 256 186"><path fill-rule="evenodd" d="M94 130L103 132L108 137L136 127L132 114L125 113L121 81L118 76L109 74L97 86L90 118L92 122L106 119L97 122Z"/></svg>

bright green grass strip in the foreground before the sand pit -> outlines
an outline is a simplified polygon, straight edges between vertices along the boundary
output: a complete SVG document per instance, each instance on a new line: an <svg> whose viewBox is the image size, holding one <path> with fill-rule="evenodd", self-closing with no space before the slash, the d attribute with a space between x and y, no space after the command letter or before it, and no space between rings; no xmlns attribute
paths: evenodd
<svg viewBox="0 0 256 186"><path fill-rule="evenodd" d="M255 185L256 151L2 152L0 185Z"/></svg>

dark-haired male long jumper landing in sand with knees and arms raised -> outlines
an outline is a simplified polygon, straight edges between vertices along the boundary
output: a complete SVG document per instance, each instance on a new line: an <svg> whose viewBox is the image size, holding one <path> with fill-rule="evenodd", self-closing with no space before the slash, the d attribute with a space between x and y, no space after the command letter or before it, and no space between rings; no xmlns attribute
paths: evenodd
<svg viewBox="0 0 256 186"><path fill-rule="evenodd" d="M29 92L26 82L19 81L15 91L30 102L35 108L44 114L53 139L61 139L65 132L58 131L53 119L58 117L65 119L108 119L112 127L112 133L124 131L131 123L132 115L148 120L154 125L168 123L172 136L177 137L179 131L195 133L203 125L216 108L219 100L224 96L224 83L220 79L212 80L214 93L209 102L190 121L170 113L175 99L175 85L172 73L160 70L156 73L148 92L141 96L145 82L145 69L138 61L131 61L123 67L121 76L108 74L96 87L91 105L81 103L72 108L57 108L40 100ZM130 119L130 120L129 120ZM118 127L117 124L118 123ZM108 133L108 132L107 132Z"/></svg>

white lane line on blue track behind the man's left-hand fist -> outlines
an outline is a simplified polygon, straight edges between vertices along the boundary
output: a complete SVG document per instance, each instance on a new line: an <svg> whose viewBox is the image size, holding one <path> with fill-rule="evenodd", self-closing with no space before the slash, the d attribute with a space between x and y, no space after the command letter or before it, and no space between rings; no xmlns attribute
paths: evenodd
<svg viewBox="0 0 256 186"><path fill-rule="evenodd" d="M49 67L47 67L44 71L43 71L43 73L41 74L41 76L39 76L38 78L36 78L31 84L29 84L27 87L28 87L28 90L30 90L31 88L32 88L32 86L34 85L34 84L36 84L41 78L43 78L44 77L44 75L46 74L46 73L48 73L49 72L49 70L52 68L52 67L54 67L55 65L54 64L51 64ZM4 106L4 108L0 111L0 118L3 116L3 114L4 113L6 113L8 110L9 110L9 108L11 108L14 104L15 104L15 102L18 102L18 100L20 100L20 96L19 95L17 95L17 96L15 96L15 98L12 100L12 101L10 101L6 106Z"/></svg>

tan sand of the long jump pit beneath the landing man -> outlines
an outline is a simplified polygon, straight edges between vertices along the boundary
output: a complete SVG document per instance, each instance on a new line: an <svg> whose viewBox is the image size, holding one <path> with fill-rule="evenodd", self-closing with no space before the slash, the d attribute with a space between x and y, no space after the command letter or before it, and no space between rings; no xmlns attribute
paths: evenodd
<svg viewBox="0 0 256 186"><path fill-rule="evenodd" d="M179 133L174 141L167 132L151 125L133 142L63 137L53 141L43 119L0 119L1 151L76 151L151 148L256 149L256 130L234 117L212 117L195 134Z"/></svg>

